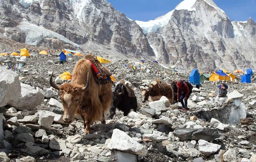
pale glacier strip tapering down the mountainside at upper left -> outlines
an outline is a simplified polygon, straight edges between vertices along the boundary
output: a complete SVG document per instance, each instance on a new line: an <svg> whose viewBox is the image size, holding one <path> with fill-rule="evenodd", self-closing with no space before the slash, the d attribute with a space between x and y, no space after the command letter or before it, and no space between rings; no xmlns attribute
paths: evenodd
<svg viewBox="0 0 256 162"><path fill-rule="evenodd" d="M61 34L55 33L54 31L48 30L43 26L36 26L27 21L22 21L20 25L17 26L26 36L26 44L28 45L38 45L44 38L56 38L64 43L73 45L77 48L81 48L80 45L71 42Z"/></svg>

